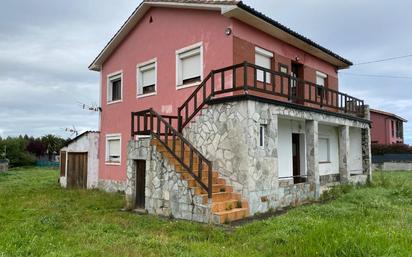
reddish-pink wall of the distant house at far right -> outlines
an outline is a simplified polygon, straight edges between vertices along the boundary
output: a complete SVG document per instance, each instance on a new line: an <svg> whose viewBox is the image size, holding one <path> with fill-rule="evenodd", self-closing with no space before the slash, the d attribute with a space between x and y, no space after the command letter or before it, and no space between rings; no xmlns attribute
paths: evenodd
<svg viewBox="0 0 412 257"><path fill-rule="evenodd" d="M397 119L384 115L381 113L376 113L371 111L371 138L372 143L378 144L395 144L399 141L403 141L402 138L396 136L396 122ZM392 121L395 124L395 135L392 136Z"/></svg>

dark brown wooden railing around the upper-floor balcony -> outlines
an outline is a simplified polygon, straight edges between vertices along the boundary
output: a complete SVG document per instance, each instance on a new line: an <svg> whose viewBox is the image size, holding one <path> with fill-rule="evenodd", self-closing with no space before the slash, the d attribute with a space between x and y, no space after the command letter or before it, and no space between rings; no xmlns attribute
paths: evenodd
<svg viewBox="0 0 412 257"><path fill-rule="evenodd" d="M363 117L364 101L313 82L244 62L213 70L178 108L179 131L212 98L249 94Z"/></svg>

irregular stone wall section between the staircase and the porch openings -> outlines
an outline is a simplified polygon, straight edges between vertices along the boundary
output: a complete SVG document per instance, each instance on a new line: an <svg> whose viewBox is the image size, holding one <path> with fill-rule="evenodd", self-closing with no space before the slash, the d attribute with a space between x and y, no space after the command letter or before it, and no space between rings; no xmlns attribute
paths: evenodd
<svg viewBox="0 0 412 257"><path fill-rule="evenodd" d="M213 162L214 170L249 202L250 213L265 212L261 198L278 188L277 116L266 109L251 113L253 102L241 101L209 106L184 135ZM259 146L260 126L265 126L265 147Z"/></svg>

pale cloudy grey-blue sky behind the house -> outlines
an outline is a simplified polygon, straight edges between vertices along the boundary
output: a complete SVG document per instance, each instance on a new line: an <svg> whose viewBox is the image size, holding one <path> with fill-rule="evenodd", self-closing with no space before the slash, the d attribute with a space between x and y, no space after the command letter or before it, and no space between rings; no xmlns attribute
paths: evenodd
<svg viewBox="0 0 412 257"><path fill-rule="evenodd" d="M409 0L244 2L355 64L412 54ZM98 114L82 104L98 106L99 73L87 67L139 3L1 0L0 137L96 130ZM372 108L410 120L412 144L412 57L354 65L339 72L339 83Z"/></svg>

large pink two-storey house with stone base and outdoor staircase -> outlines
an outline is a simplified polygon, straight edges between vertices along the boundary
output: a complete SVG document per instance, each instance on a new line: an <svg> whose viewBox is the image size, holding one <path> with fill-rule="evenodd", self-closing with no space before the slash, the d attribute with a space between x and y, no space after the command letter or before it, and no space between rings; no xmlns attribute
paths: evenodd
<svg viewBox="0 0 412 257"><path fill-rule="evenodd" d="M227 222L370 178L352 63L238 1L144 1L90 65L99 187L127 208Z"/></svg>

